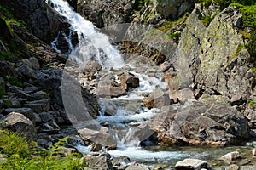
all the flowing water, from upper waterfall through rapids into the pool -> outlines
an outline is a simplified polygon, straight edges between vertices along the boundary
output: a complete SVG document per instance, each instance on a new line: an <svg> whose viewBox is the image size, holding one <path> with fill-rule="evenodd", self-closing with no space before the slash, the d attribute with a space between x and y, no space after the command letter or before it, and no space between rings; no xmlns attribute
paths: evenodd
<svg viewBox="0 0 256 170"><path fill-rule="evenodd" d="M102 69L108 71L110 68L119 69L125 65L122 55L114 48L108 36L100 33L96 26L85 20L82 16L75 13L72 8L69 7L67 2L62 0L46 0L46 2L52 8L66 17L70 23L71 31L76 31L79 37L79 44L77 47L72 47L71 36L67 36L67 42L71 49L69 59L81 65L84 61L96 60L102 65ZM58 37L57 37L58 38ZM52 42L53 48L57 52L60 52L55 42ZM130 65L131 66L131 65ZM143 71L142 71L143 72ZM108 102L118 105L118 109L114 116L104 116L103 114L96 119L99 124L108 122L109 127L117 127L122 130L122 134L116 134L118 139L117 150L108 150L108 153L112 156L129 156L131 161L139 161L143 163L156 164L164 163L167 165L175 165L179 160L183 160L188 157L200 157L210 155L221 155L224 150L215 150L209 148L163 148L160 146L151 146L143 148L138 143L137 139L132 139L131 132L136 129L137 125L157 114L158 110L148 109L141 106L143 94L149 94L154 91L154 88L160 87L166 88L166 83L161 81L160 77L148 77L146 74L139 74L136 71L131 71L133 75L139 78L140 86L133 89L128 95L121 96L113 99L99 99L102 110L108 105ZM125 131L123 131L125 129ZM78 145L77 148L84 154L90 153L90 147ZM238 150L232 148L230 151ZM227 150L226 150L227 151ZM216 159L216 157L209 158L210 160Z"/></svg>

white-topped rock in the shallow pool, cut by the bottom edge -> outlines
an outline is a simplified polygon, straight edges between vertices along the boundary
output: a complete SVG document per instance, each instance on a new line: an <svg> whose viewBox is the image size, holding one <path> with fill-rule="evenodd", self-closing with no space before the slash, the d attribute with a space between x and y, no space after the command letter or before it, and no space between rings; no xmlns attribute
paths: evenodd
<svg viewBox="0 0 256 170"><path fill-rule="evenodd" d="M212 167L207 163L207 161L201 161L198 159L185 159L183 161L178 161L175 165L176 170L186 170L186 169L194 169L194 170L200 170L200 169L212 169Z"/></svg>

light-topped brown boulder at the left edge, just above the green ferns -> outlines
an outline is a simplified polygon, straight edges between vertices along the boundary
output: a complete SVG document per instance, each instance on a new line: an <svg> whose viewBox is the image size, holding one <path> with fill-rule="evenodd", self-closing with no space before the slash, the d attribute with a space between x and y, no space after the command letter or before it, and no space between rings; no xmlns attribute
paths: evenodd
<svg viewBox="0 0 256 170"><path fill-rule="evenodd" d="M35 139L36 129L26 116L17 112L11 112L2 118L2 122L5 123L6 128L25 137L27 140Z"/></svg>

